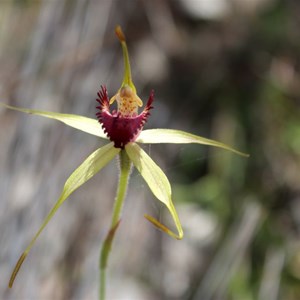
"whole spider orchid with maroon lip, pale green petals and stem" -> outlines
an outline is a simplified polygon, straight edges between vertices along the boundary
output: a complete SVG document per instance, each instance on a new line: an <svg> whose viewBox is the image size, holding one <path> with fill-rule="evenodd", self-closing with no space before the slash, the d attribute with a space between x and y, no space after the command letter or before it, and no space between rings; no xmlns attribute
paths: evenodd
<svg viewBox="0 0 300 300"><path fill-rule="evenodd" d="M163 225L152 216L145 215L145 218L149 220L154 226L167 233L169 236L178 240L183 238L183 229L172 202L172 192L168 178L161 170L161 168L139 146L139 144L195 143L215 146L232 151L242 156L248 156L247 154L239 152L223 143L180 130L143 130L143 127L150 115L150 110L153 108L152 104L154 101L154 92L150 92L147 104L145 105L142 112L139 113L138 109L139 107L142 107L143 102L137 95L136 88L132 82L126 39L120 26L116 27L115 33L121 43L123 50L124 77L120 89L110 99L106 87L101 86L97 98L97 102L99 105L97 106L96 116L98 120L79 115L61 114L56 112L33 110L2 104L8 109L61 121L68 126L110 141L105 146L100 147L92 154L90 154L67 179L59 199L57 200L49 214L46 216L41 227L19 258L12 272L9 281L9 287L13 286L16 275L20 270L20 267L24 262L26 256L28 255L37 238L39 237L45 226L48 224L48 222L51 220L51 218L54 216L58 208L76 189L78 189L81 185L83 185L90 178L96 175L116 156L119 156L120 163L119 185L115 198L111 227L106 236L106 239L104 240L100 253L100 299L105 298L107 261L115 232L120 222L120 215L126 195L132 165L142 175L153 195L167 207L174 221L176 231L169 229L167 226ZM115 101L117 103L117 109L111 110L110 106Z"/></svg>

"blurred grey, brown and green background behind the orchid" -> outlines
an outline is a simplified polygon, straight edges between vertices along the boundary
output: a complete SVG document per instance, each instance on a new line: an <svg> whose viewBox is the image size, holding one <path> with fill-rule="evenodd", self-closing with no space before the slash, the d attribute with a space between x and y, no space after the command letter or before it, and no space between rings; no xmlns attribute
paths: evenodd
<svg viewBox="0 0 300 300"><path fill-rule="evenodd" d="M11 105L95 117L101 84L123 75L120 24L146 128L174 128L250 153L152 145L185 230L134 171L108 270L107 299L300 299L300 2L2 0L0 95ZM70 173L102 140L0 108L0 298L97 299L100 245L117 163L59 209L11 271Z"/></svg>

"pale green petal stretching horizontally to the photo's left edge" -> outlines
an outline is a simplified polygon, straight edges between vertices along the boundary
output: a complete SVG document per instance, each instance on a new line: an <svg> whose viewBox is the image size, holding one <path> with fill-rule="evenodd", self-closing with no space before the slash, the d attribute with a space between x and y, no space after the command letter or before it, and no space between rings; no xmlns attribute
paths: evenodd
<svg viewBox="0 0 300 300"><path fill-rule="evenodd" d="M0 103L0 104L5 106L8 109L24 112L27 114L38 115L45 118L55 119L73 128L107 139L106 134L104 133L103 129L101 128L101 125L96 119L91 119L79 115L61 114L61 113L56 113L51 111L42 111L42 110L15 107L4 103Z"/></svg>

